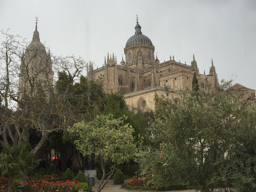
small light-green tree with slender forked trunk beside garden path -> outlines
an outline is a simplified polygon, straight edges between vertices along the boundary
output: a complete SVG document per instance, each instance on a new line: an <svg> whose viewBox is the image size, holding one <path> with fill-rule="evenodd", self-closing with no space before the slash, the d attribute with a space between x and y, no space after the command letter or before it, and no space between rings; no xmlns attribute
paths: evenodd
<svg viewBox="0 0 256 192"><path fill-rule="evenodd" d="M115 119L113 114L96 116L89 123L80 122L68 129L70 133L78 136L75 140L77 149L85 155L95 155L101 162L102 178L97 188L100 192L113 175L118 164L129 161L136 153L133 129L124 124L126 116ZM113 165L111 171L106 173L106 164ZM108 176L106 181L104 178Z"/></svg>

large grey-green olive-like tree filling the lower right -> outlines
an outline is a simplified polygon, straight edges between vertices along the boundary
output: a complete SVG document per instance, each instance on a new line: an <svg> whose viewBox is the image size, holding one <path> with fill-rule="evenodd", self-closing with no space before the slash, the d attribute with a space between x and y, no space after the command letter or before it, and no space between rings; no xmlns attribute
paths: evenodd
<svg viewBox="0 0 256 192"><path fill-rule="evenodd" d="M150 126L154 148L140 153L143 175L158 186L255 191L255 105L245 105L228 92L184 92L178 103L156 101Z"/></svg>

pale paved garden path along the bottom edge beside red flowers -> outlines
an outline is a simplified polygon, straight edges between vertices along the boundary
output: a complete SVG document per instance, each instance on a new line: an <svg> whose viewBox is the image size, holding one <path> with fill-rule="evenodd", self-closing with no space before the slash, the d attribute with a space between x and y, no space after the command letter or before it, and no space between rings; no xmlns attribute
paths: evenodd
<svg viewBox="0 0 256 192"><path fill-rule="evenodd" d="M98 183L95 183L95 186L92 187L92 191L96 192L98 188ZM114 185L113 180L109 180L108 183L104 186L101 192L149 192L149 191L139 191L139 190L127 190L121 188L121 185ZM165 192L195 192L195 190L175 190L175 191L165 191Z"/></svg>

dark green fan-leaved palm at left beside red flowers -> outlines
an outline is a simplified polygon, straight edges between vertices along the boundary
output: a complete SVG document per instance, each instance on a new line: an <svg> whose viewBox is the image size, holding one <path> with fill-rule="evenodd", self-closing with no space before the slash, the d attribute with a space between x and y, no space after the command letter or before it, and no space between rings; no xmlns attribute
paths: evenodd
<svg viewBox="0 0 256 192"><path fill-rule="evenodd" d="M20 142L11 148L1 142L1 146L3 148L0 153L1 176L8 178L8 191L15 191L17 184L24 181L24 173L30 173L37 165L37 155L31 151L27 142Z"/></svg>

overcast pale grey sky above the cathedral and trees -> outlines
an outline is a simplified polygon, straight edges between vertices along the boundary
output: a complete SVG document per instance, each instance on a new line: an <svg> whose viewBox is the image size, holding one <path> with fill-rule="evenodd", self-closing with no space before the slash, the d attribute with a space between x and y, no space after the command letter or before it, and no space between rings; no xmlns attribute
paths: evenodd
<svg viewBox="0 0 256 192"><path fill-rule="evenodd" d="M209 74L213 58L219 81L234 76L256 89L254 0L0 0L0 29L32 41L37 16L53 55L80 55L99 67L108 52L121 62L136 15L160 62L174 55L190 65L195 54L199 72Z"/></svg>

